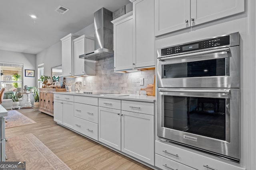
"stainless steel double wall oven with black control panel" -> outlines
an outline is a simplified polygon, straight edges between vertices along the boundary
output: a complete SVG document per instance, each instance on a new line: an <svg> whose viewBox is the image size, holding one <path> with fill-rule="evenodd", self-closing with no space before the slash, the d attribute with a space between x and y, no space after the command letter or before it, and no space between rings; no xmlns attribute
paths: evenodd
<svg viewBox="0 0 256 170"><path fill-rule="evenodd" d="M239 162L239 33L158 49L158 139Z"/></svg>

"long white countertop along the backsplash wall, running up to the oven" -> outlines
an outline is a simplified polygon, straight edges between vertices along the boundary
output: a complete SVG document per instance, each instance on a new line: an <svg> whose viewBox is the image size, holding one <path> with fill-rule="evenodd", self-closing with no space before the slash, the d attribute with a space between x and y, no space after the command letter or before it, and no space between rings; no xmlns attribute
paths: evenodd
<svg viewBox="0 0 256 170"><path fill-rule="evenodd" d="M75 93L75 92L54 92L54 94L66 94L66 95L74 95L74 96L86 96L86 97L108 98L108 99L118 99L118 100L132 100L132 101L152 102L152 103L156 101L155 96L146 96L146 95L138 95L138 94L126 94L129 96L101 96L99 94L83 94L83 93Z"/></svg>

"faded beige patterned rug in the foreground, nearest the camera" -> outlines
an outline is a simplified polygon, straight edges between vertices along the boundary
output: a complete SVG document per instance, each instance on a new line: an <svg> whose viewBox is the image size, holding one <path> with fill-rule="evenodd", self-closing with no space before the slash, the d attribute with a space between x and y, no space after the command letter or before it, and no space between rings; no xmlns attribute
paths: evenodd
<svg viewBox="0 0 256 170"><path fill-rule="evenodd" d="M10 137L5 145L8 158L6 161L26 162L26 170L70 170L31 133Z"/></svg>

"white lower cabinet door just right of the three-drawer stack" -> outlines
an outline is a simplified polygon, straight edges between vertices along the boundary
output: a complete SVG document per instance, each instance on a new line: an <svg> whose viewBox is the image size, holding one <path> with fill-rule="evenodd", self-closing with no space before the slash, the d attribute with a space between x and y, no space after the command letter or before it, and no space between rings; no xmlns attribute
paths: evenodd
<svg viewBox="0 0 256 170"><path fill-rule="evenodd" d="M121 150L121 111L99 107L98 112L99 141L110 147Z"/></svg>

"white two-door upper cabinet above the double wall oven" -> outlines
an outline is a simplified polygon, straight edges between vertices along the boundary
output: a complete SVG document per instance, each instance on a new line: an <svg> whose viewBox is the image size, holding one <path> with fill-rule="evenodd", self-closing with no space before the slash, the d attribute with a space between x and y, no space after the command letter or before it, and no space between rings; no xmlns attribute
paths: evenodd
<svg viewBox="0 0 256 170"><path fill-rule="evenodd" d="M155 0L155 36L244 12L244 0Z"/></svg>

